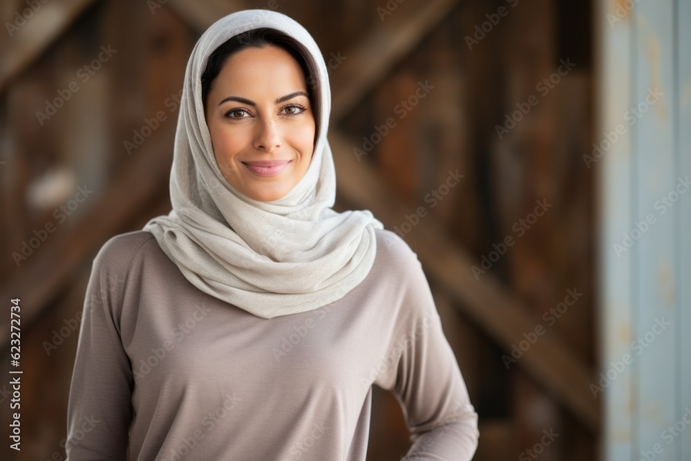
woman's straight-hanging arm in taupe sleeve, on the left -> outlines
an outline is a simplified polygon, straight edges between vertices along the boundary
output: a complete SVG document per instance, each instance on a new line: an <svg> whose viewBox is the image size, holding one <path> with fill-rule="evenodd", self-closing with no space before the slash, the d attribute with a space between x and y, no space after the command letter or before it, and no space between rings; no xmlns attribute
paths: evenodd
<svg viewBox="0 0 691 461"><path fill-rule="evenodd" d="M112 241L111 241L112 242ZM126 460L133 377L120 339L126 252L96 256L79 330L67 412L68 461Z"/></svg>

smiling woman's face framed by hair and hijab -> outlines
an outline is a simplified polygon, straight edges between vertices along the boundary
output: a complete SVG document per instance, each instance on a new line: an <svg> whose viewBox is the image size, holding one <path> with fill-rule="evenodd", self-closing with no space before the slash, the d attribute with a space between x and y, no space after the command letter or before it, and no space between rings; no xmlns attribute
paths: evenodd
<svg viewBox="0 0 691 461"><path fill-rule="evenodd" d="M285 196L305 176L314 151L314 113L305 75L276 46L231 55L207 97L207 126L218 168L261 202Z"/></svg>

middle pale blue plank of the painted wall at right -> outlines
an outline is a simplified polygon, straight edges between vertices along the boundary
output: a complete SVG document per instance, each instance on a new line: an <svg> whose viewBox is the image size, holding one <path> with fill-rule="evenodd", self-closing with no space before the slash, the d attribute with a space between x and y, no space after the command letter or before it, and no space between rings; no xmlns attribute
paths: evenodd
<svg viewBox="0 0 691 461"><path fill-rule="evenodd" d="M632 218L636 223L645 223L649 216L656 219L649 224L650 229L634 241L630 250L634 254L634 316L638 317L635 337L638 344L647 345L642 352L634 350L634 364L638 364L634 378L638 386L634 408L639 412L635 424L638 451L652 451L655 444L661 444L664 451L659 459L671 461L679 459L679 440L667 444L661 440L661 433L670 424L674 425L681 415L677 402L678 350L674 327L679 300L674 294L674 285L682 281L678 279L674 265L674 216L677 211L670 209L663 214L656 203L670 192L676 194L674 187L678 177L674 171L673 110L677 99L672 57L674 0L637 3L632 20L636 30L632 37L635 50L632 72L636 80L630 103L641 111L641 117L634 125L632 175L635 187L632 195L635 205ZM657 88L664 95L654 105L649 105L646 98ZM649 109L646 111L641 106ZM677 200L679 198L677 196ZM684 199L688 196L681 197ZM640 227L634 227L633 222L627 224L631 235L634 234L632 229ZM688 236L688 229L685 236ZM659 319L665 319L670 326L664 329L657 326Z"/></svg>

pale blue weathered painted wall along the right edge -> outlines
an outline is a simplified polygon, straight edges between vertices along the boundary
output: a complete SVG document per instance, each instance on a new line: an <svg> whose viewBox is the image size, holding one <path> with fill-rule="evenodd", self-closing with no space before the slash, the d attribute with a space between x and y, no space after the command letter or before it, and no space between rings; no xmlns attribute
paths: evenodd
<svg viewBox="0 0 691 461"><path fill-rule="evenodd" d="M688 461L691 0L594 11L603 458Z"/></svg>

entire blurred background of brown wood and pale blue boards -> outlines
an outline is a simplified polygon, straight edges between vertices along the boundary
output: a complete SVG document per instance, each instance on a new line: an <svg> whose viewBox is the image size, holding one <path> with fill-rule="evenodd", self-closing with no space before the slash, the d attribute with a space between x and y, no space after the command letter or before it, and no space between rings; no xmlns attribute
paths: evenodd
<svg viewBox="0 0 691 461"><path fill-rule="evenodd" d="M337 209L422 261L474 459L691 460L691 0L3 1L0 458L64 460L93 258L169 211L189 53L245 8L319 44ZM368 460L399 460L375 391Z"/></svg>

